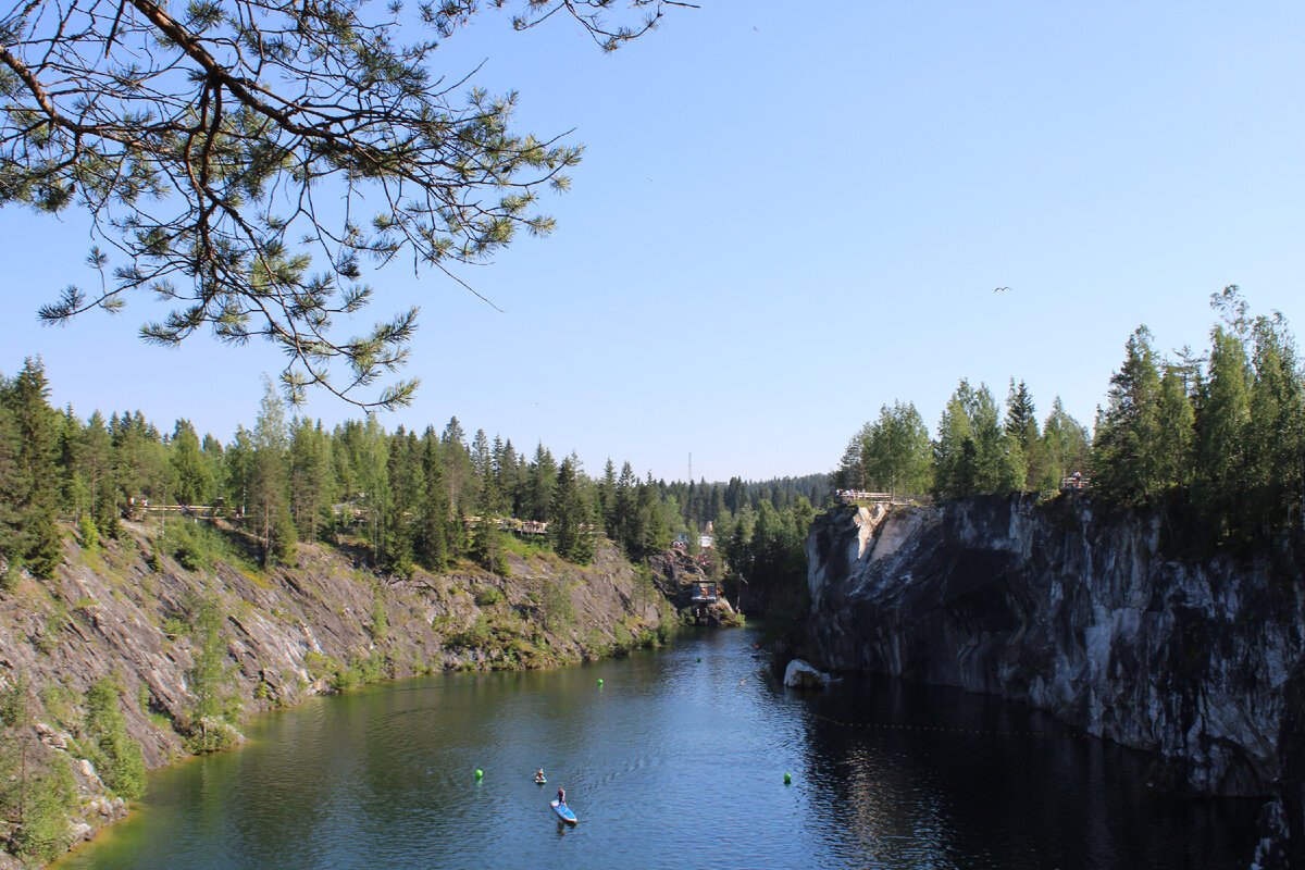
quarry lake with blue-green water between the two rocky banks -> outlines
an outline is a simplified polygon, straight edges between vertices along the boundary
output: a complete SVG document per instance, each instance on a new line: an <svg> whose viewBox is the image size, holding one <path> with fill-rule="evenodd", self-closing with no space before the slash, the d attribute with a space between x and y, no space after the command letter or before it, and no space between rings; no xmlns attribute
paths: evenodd
<svg viewBox="0 0 1305 870"><path fill-rule="evenodd" d="M689 633L599 664L318 698L251 723L236 751L153 773L128 820L54 866L1250 863L1257 801L1156 793L1150 757L994 698L874 680L799 695L758 639ZM549 809L559 785L574 827Z"/></svg>

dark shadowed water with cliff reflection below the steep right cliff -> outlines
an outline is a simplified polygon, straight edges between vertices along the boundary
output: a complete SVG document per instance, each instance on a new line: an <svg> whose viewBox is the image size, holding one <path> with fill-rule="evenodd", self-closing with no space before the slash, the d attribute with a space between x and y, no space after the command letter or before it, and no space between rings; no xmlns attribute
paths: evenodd
<svg viewBox="0 0 1305 870"><path fill-rule="evenodd" d="M805 702L808 768L840 866L1248 866L1255 801L1146 787L1151 757L1039 711L850 680Z"/></svg>

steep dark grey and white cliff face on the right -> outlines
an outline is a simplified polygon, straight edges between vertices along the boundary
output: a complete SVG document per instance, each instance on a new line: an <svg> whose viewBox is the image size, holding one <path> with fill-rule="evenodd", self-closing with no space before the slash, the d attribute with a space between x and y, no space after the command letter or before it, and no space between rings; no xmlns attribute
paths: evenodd
<svg viewBox="0 0 1305 870"><path fill-rule="evenodd" d="M1276 793L1305 854L1298 562L1173 561L1158 519L1067 496L846 509L806 552L820 664L1049 710L1158 753L1171 788Z"/></svg>

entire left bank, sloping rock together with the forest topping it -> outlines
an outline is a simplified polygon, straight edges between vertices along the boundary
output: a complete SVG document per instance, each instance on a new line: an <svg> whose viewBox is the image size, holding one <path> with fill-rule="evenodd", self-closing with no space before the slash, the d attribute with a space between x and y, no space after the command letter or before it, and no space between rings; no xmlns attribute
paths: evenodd
<svg viewBox="0 0 1305 870"><path fill-rule="evenodd" d="M50 394L39 359L0 377L0 840L25 860L125 813L161 753L228 746L248 710L312 683L655 643L675 614L638 563L673 541L710 577L792 587L825 497L826 475L667 484L608 460L594 477L457 417L328 429L271 383L226 443ZM121 643L85 646L106 633ZM264 657L308 634L304 663Z"/></svg>

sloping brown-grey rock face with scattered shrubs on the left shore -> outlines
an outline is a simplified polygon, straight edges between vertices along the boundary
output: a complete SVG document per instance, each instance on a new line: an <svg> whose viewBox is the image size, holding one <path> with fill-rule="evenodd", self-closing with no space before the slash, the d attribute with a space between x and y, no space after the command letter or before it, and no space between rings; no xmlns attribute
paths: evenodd
<svg viewBox="0 0 1305 870"><path fill-rule="evenodd" d="M359 681L620 653L664 637L676 621L655 578L606 543L586 567L527 549L508 554L508 577L468 566L402 579L313 545L300 545L294 567L214 561L188 571L151 557L145 531L129 526L93 552L65 541L55 580L23 578L0 592L0 693L21 686L30 713L0 740L23 741L31 770L72 768L80 806L72 839L127 811L80 750L95 681L110 677L123 690L127 732L147 767L193 747L184 732L196 725L201 603L221 617L219 691L232 720ZM13 831L0 819L0 843ZM0 852L0 869L9 866L14 858Z"/></svg>

